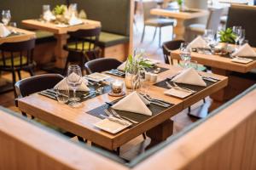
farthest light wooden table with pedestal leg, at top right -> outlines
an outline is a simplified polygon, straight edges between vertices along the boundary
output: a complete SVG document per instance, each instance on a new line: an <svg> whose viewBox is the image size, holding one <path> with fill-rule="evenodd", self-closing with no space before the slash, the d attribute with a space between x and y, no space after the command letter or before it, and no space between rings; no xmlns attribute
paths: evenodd
<svg viewBox="0 0 256 170"><path fill-rule="evenodd" d="M175 26L173 29L176 35L175 39L184 39L183 36L185 32L185 26L184 26L185 20L200 18L203 16L207 16L208 14L208 11L203 9L191 8L188 10L194 11L194 12L180 12L180 11L175 11L175 10L170 10L165 8L153 8L150 10L150 14L164 16L164 17L171 17L176 19L177 26Z"/></svg>

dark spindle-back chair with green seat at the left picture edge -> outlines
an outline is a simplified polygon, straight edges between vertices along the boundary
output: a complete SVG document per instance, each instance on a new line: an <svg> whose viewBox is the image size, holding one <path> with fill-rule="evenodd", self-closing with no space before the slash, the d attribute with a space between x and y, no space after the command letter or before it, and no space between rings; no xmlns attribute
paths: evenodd
<svg viewBox="0 0 256 170"><path fill-rule="evenodd" d="M2 58L0 59L0 71L8 71L12 73L14 88L16 82L16 72L18 73L20 80L20 71L28 71L31 76L34 75L33 69L36 65L36 63L33 61L34 48L35 39L23 42L5 42L0 45L2 55ZM17 95L15 93L15 97L16 96Z"/></svg>

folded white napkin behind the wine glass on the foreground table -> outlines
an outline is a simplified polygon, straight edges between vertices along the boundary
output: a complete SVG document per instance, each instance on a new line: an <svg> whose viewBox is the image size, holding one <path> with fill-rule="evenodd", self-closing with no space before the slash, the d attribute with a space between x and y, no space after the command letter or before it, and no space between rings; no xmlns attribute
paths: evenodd
<svg viewBox="0 0 256 170"><path fill-rule="evenodd" d="M77 74L72 73L69 77L79 77ZM89 92L90 88L87 87L88 81L85 78L82 78L82 84L79 86L78 91L84 91L84 92ZM58 82L55 85L55 89L61 89L61 90L67 90L67 88L69 90L72 90L73 88L71 88L70 86L68 86L67 84L67 77L63 78L63 80L61 80L61 82Z"/></svg>

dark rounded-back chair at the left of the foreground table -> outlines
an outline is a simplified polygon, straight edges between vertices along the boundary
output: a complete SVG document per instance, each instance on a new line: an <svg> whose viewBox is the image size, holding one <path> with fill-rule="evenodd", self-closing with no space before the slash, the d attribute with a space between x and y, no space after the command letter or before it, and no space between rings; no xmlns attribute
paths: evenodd
<svg viewBox="0 0 256 170"><path fill-rule="evenodd" d="M63 78L64 77L62 77L59 74L44 74L44 75L38 75L38 76L29 77L29 78L20 80L19 82L15 83L15 91L18 96L17 99L26 97L30 94L40 92L45 89L54 88L54 86L58 82L61 82L61 80ZM15 99L15 104L18 107L19 105L18 105L17 99ZM22 112L22 115L27 116L26 113L24 113L24 112ZM32 116L32 119L34 119L33 116ZM54 128L56 131L63 133L70 138L73 138L75 136L73 133L63 131L62 129L60 129L58 127L54 127L54 126L50 125L49 123L42 122L41 120L39 120L37 118L35 119L35 121L40 122L47 127ZM84 141L84 139L81 137L78 137L78 139L79 139L79 141Z"/></svg>

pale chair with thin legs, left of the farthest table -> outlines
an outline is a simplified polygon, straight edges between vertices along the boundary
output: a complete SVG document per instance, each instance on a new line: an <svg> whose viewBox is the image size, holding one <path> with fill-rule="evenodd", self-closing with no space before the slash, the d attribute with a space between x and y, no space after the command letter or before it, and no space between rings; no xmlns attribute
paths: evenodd
<svg viewBox="0 0 256 170"><path fill-rule="evenodd" d="M141 42L143 42L144 34L145 34L145 28L146 26L154 26L154 37L156 35L156 30L159 27L159 46L161 44L161 28L164 26L173 26L174 20L172 19L162 19L158 18L156 16L152 16L150 14L150 9L152 8L157 8L157 2L152 1L152 2L143 2L143 20L144 20L144 26L143 26L143 36Z"/></svg>

